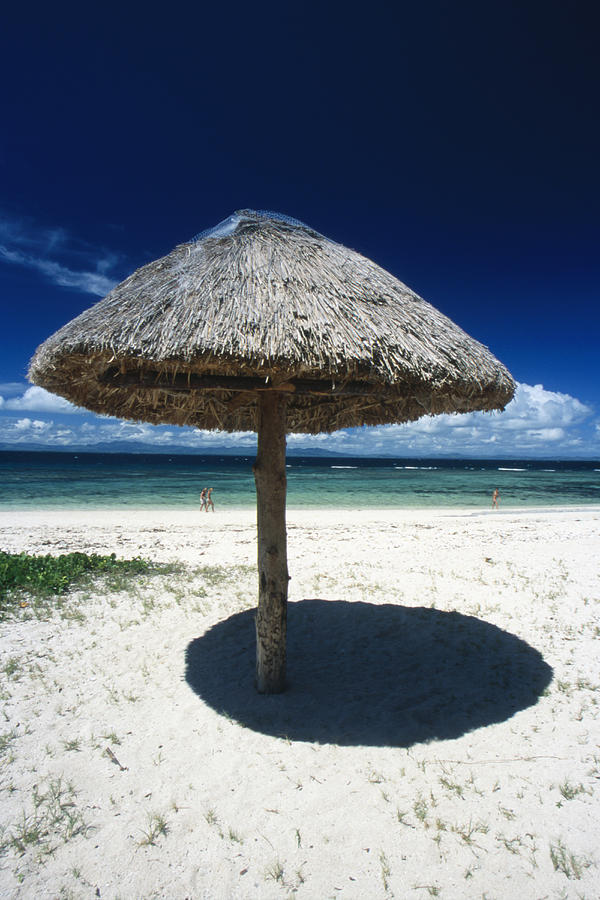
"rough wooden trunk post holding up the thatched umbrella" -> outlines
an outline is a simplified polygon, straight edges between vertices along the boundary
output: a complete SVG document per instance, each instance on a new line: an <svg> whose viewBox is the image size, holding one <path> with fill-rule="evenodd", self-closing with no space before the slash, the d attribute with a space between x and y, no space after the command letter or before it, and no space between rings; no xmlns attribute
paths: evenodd
<svg viewBox="0 0 600 900"><path fill-rule="evenodd" d="M286 398L258 397L258 450L254 463L258 528L258 609L256 612L256 689L285 689L287 632L287 536L285 526Z"/></svg>

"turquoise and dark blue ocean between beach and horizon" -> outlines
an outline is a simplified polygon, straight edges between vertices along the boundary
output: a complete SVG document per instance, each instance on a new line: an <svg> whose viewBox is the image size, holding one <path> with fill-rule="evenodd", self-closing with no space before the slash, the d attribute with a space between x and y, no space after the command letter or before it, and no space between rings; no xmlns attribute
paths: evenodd
<svg viewBox="0 0 600 900"><path fill-rule="evenodd" d="M1 509L217 510L256 503L253 456L0 452ZM600 462L290 456L288 508L600 505Z"/></svg>

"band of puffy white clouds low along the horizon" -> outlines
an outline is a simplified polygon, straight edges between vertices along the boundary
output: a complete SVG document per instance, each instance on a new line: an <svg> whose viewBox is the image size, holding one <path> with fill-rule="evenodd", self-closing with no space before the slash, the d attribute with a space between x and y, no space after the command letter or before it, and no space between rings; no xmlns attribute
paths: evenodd
<svg viewBox="0 0 600 900"><path fill-rule="evenodd" d="M36 412L33 418L9 417L9 411ZM63 420L64 413L79 413ZM52 419L45 416L52 416ZM123 422L85 413L41 388L0 403L0 441L7 446L128 446L144 444L202 453L214 447L253 453L255 435L226 434L197 428ZM425 417L405 425L350 428L333 434L288 435L288 448L325 450L356 456L450 456L496 458L600 457L600 423L594 411L569 394L542 385L520 384L503 413L467 413Z"/></svg>

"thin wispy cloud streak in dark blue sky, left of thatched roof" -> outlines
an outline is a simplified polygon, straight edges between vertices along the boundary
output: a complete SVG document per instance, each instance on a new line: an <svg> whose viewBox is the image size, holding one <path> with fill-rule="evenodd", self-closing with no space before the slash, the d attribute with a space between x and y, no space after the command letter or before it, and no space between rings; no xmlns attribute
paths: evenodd
<svg viewBox="0 0 600 900"><path fill-rule="evenodd" d="M39 272L60 287L103 297L117 282L114 253L72 238L64 228L39 228L0 218L0 261Z"/></svg>

